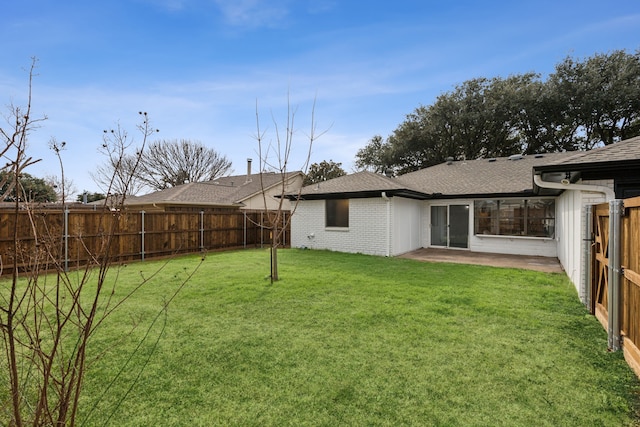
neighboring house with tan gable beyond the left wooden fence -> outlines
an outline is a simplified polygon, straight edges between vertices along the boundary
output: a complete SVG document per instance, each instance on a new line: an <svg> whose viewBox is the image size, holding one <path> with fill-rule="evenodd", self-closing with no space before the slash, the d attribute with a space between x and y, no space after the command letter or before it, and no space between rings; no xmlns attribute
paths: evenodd
<svg viewBox="0 0 640 427"><path fill-rule="evenodd" d="M303 174L288 172L284 192L296 192L302 187ZM277 209L283 188L283 175L275 172L251 173L251 160L247 162L247 174L218 178L213 181L190 182L166 190L127 197L127 208L152 211L185 211L208 209ZM264 189L264 192L263 192ZM283 200L283 209L290 203Z"/></svg>

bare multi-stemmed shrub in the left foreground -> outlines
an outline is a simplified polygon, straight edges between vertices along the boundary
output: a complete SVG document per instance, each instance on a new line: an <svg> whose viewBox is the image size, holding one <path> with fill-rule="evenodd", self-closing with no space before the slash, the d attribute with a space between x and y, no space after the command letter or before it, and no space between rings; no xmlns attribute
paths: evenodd
<svg viewBox="0 0 640 427"><path fill-rule="evenodd" d="M26 107L10 106L8 126L0 128L0 154L7 161L3 169L12 177L11 185L17 194L24 193L19 176L26 167L37 162L27 154L29 134L39 121L44 120L32 117L34 66L35 60L29 71ZM142 123L138 129L143 135L144 147L154 130L147 114L141 112L140 115ZM125 140L107 138L105 143L114 145L104 148L116 159L122 159L127 155L123 150ZM61 159L62 145L53 144L52 148ZM61 176L64 182L64 173ZM109 189L117 179L121 180L124 190L132 181L131 176L114 176ZM62 257L64 239L60 225L47 221L49 215L39 214L25 200L25 197L15 197L10 215L12 254L10 259L0 259L0 274L11 269L10 280L0 281L3 350L0 356L3 367L0 417L7 425L16 427L74 426L78 421L80 395L89 365L99 359L99 354L92 352L90 342L104 320L149 279L142 277L132 291L120 297L116 296L117 280L108 280L115 230L124 215L122 209L101 211L98 219L101 234L91 247L82 237L77 237L78 246L84 247L89 255L89 262L69 273ZM19 230L25 229L30 229L31 235L23 241ZM7 264L3 264L5 262ZM44 274L45 269L53 270L53 274ZM176 293L192 274L178 285ZM166 306L176 293L167 298L158 316L166 313Z"/></svg>

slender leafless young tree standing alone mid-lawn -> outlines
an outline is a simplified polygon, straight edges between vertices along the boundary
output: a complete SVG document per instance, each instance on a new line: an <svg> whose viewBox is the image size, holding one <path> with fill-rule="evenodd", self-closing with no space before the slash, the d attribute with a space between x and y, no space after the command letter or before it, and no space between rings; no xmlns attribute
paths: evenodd
<svg viewBox="0 0 640 427"><path fill-rule="evenodd" d="M276 209L269 209L267 204L267 195L265 192L265 186L263 182L263 173L260 173L260 185L262 188L262 196L264 199L265 211L267 214L268 227L271 232L271 282L279 280L278 274L278 247L282 244L282 237L284 230L287 229L291 222L296 207L298 206L298 198L291 206L290 215L285 216L284 200L285 195L290 192L288 188L289 180L289 164L291 161L291 152L298 141L295 139L295 118L296 108L292 108L287 98L287 116L285 119L285 128L281 129L277 120L272 115L272 122L274 124L274 140L266 141L266 131L263 131L260 127L260 114L258 112L258 104L256 102L256 140L258 141L258 158L260 159L260 171L271 170L280 175L279 186L279 203ZM311 159L311 148L316 139L318 139L326 131L318 134L316 132L315 123L315 100L311 109L311 129L308 135L306 135L305 143L308 145L306 151L306 157L302 162L301 170L303 174L306 174L309 168L309 162ZM298 195L301 188L298 189Z"/></svg>

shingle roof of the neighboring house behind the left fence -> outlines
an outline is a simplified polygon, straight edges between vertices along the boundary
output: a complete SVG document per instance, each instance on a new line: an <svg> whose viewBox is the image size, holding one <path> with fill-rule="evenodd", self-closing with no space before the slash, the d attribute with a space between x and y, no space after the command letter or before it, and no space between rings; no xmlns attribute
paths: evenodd
<svg viewBox="0 0 640 427"><path fill-rule="evenodd" d="M288 172L287 179L301 172ZM206 206L242 206L243 201L260 194L281 182L279 173L262 173L251 175L235 175L218 178L213 181L190 182L166 190L126 199L128 206L148 204L189 204Z"/></svg>

